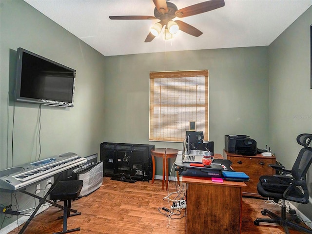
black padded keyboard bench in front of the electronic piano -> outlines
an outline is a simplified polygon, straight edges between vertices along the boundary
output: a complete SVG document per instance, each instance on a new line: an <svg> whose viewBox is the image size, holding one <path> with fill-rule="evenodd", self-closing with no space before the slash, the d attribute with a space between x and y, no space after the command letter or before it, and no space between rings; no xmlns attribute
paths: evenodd
<svg viewBox="0 0 312 234"><path fill-rule="evenodd" d="M50 200L63 200L64 213L58 219L63 218L63 231L53 234L65 234L79 231L80 228L67 230L67 218L74 215L81 215L80 212L70 214L72 200L78 198L82 189L82 180L66 180L59 181L55 188L50 193Z"/></svg>

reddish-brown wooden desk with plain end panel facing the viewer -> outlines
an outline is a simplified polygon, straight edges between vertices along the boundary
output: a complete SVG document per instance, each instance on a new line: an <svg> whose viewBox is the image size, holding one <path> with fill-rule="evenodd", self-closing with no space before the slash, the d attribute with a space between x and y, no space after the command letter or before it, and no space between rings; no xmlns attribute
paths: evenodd
<svg viewBox="0 0 312 234"><path fill-rule="evenodd" d="M182 182L187 184L186 234L240 234L244 182L187 176Z"/></svg>

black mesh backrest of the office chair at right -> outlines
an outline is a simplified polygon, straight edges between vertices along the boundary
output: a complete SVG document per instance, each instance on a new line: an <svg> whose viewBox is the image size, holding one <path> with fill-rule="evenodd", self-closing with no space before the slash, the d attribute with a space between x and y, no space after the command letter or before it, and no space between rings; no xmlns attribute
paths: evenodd
<svg viewBox="0 0 312 234"><path fill-rule="evenodd" d="M306 147L300 150L299 155L292 166L292 176L296 180L305 180L308 169L312 163L312 148Z"/></svg>

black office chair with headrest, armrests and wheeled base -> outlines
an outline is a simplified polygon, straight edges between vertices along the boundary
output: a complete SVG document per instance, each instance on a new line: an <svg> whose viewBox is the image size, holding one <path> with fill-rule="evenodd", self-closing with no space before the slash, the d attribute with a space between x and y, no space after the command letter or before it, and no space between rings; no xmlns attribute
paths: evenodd
<svg viewBox="0 0 312 234"><path fill-rule="evenodd" d="M282 172L282 175L260 176L257 184L258 193L263 197L273 198L275 202L279 199L283 201L281 216L275 215L271 211L264 209L262 215L268 215L270 218L257 218L254 220L254 225L259 225L260 222L277 223L283 226L286 234L289 234L288 227L298 231L303 231L312 234L312 230L300 226L300 219L295 215L291 218L286 218L285 201L294 201L302 204L309 202L309 191L306 183L306 174L312 163L312 148L309 147L312 141L312 134L300 134L297 137L298 144L304 146L298 154L296 161L292 166L292 170L285 169L281 165L269 166L275 170ZM293 222L294 221L294 222Z"/></svg>

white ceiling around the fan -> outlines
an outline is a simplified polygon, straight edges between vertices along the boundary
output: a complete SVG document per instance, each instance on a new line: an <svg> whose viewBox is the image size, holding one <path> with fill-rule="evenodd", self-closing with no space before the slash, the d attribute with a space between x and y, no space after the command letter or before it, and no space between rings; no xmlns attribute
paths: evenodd
<svg viewBox="0 0 312 234"><path fill-rule="evenodd" d="M312 5L312 0L225 0L224 7L179 18L203 32L198 38L179 31L171 40L165 41L161 34L144 42L159 20L110 20L109 16L154 16L153 0L24 1L104 56L267 46ZM203 1L170 0L178 9Z"/></svg>

